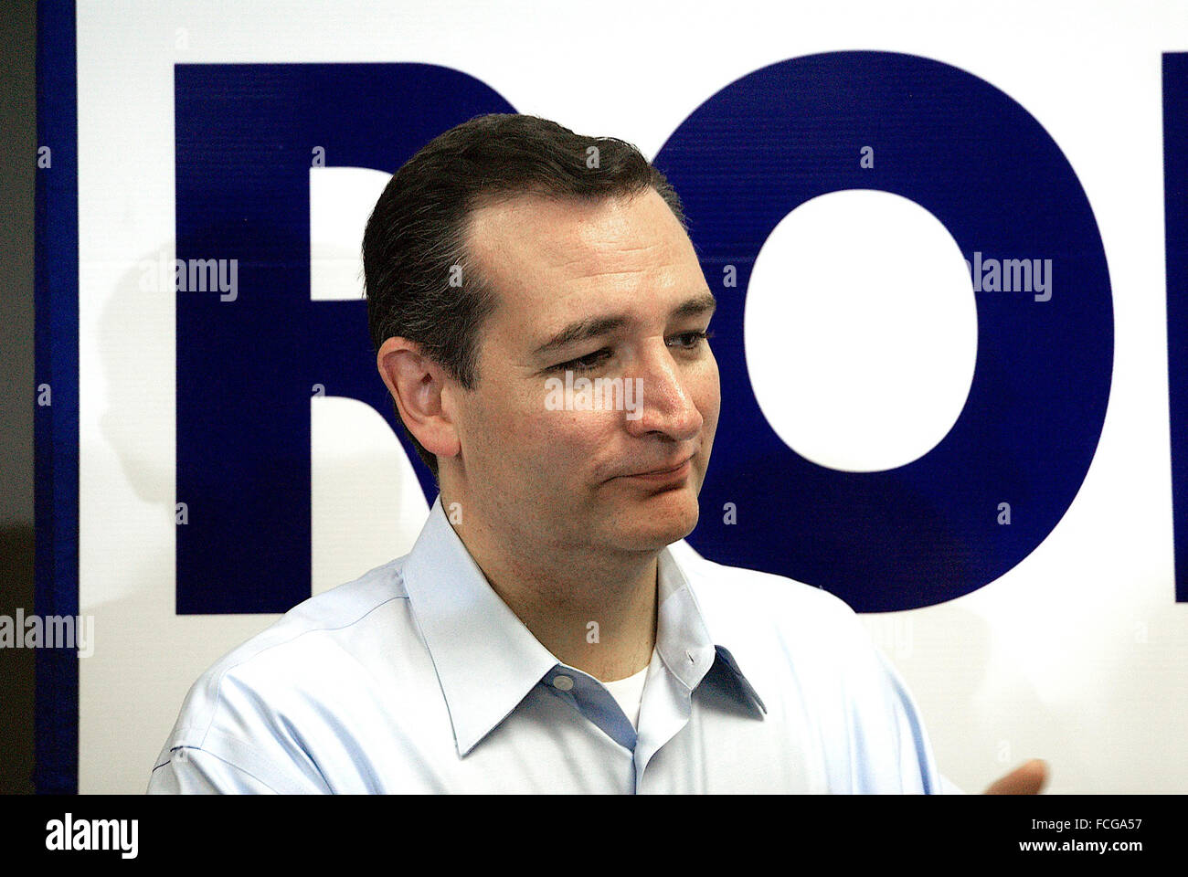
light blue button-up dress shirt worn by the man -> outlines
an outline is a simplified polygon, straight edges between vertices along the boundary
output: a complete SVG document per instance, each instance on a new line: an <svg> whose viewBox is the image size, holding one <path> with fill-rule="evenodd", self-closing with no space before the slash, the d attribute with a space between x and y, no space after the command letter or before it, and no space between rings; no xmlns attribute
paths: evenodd
<svg viewBox="0 0 1188 877"><path fill-rule="evenodd" d="M658 567L637 732L491 588L438 497L410 554L195 682L148 791L946 790L910 694L846 604L683 541Z"/></svg>

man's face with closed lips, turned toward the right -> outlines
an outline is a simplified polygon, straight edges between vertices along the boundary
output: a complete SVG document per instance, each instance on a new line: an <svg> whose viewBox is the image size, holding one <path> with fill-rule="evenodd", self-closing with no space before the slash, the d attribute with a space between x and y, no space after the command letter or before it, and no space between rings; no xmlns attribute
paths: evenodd
<svg viewBox="0 0 1188 877"><path fill-rule="evenodd" d="M646 551L687 536L720 389L700 336L713 298L668 204L652 189L519 196L478 209L468 247L499 296L479 384L451 393L460 486L481 519L523 549ZM567 404L567 370L590 381L594 410L577 410L580 392ZM609 391L615 378L624 392Z"/></svg>

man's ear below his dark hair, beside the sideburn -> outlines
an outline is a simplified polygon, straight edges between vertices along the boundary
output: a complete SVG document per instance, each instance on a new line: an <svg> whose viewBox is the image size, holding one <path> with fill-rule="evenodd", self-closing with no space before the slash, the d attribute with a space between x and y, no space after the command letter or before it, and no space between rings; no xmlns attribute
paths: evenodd
<svg viewBox="0 0 1188 877"><path fill-rule="evenodd" d="M406 337L385 341L375 354L375 365L404 425L425 450L437 456L457 456L461 450L457 429L442 404L446 371Z"/></svg>

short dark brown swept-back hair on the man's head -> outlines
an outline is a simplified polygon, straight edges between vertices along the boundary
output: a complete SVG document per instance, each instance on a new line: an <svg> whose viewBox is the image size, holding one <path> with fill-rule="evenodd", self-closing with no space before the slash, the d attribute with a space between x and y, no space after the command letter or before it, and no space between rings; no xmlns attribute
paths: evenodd
<svg viewBox="0 0 1188 877"><path fill-rule="evenodd" d="M416 341L473 390L479 330L499 298L466 252L472 213L523 194L601 201L647 188L687 228L681 200L664 175L624 140L498 113L434 138L388 182L364 233L367 324L377 353L393 336ZM437 458L404 430L436 478Z"/></svg>

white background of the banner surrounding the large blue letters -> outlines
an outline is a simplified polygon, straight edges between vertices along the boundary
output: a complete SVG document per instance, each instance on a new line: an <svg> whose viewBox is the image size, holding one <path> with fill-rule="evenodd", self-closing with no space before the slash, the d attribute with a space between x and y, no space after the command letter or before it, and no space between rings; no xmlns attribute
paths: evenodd
<svg viewBox="0 0 1188 877"><path fill-rule="evenodd" d="M1116 309L1101 443L1060 525L979 592L867 623L915 694L941 769L963 788L1040 756L1053 791L1188 790L1161 114L1161 53L1188 49L1186 6L745 0L80 4L80 611L95 616L96 631L94 656L81 661L80 790L143 791L190 683L273 620L173 614L173 295L140 289L139 266L173 258L175 63L438 64L482 80L520 112L621 137L653 157L740 76L849 49L953 64L1035 115L1088 194ZM896 223L866 234L895 235ZM826 255L845 264L873 245L839 235ZM940 252L920 240L897 246L917 264ZM771 250L764 259L778 259ZM358 283L342 295L359 295ZM953 318L961 326L960 313ZM821 332L840 337L845 327ZM917 334L914 343L927 343L928 330ZM748 332L747 345L762 373L771 346L762 332ZM971 355L950 348L936 355ZM839 398L845 386L819 390ZM763 404L773 419L805 414L778 393ZM320 399L311 416L311 550L315 589L324 589L404 554L425 505L377 412Z"/></svg>

